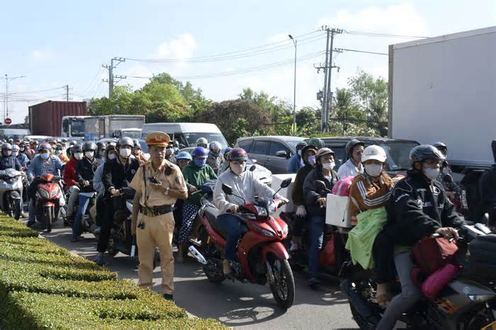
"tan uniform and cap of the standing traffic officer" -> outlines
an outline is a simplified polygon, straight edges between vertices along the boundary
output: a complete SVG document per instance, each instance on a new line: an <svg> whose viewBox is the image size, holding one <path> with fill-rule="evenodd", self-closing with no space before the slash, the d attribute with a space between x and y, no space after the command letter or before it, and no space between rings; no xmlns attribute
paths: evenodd
<svg viewBox="0 0 496 330"><path fill-rule="evenodd" d="M167 146L169 135L164 132L152 132L147 135L148 145ZM143 175L145 171L145 175ZM155 247L160 252L160 268L162 271L162 293L172 295L174 292L174 256L172 255L172 235L174 233L174 215L172 206L176 198L171 198L162 190L155 188L150 177L160 181L164 188L186 192L186 183L179 166L167 160L155 171L152 162L148 161L137 170L130 186L141 193L140 212L137 215L136 244L138 247L138 285L151 288L153 285L153 259ZM143 228L140 224L144 225Z"/></svg>

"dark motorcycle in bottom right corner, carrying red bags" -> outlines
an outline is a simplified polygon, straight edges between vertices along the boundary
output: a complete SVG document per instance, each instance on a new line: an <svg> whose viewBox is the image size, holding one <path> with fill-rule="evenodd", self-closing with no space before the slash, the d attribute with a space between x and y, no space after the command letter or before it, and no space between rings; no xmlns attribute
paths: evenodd
<svg viewBox="0 0 496 330"><path fill-rule="evenodd" d="M461 273L441 290L435 300L423 297L421 302L402 315L400 321L405 322L408 329L495 329L496 274L485 276L490 280L480 280L470 271L465 272L470 268L467 243L478 237L480 230L487 234L490 229L483 224L476 224L479 231L471 227L466 226L466 234L458 240L458 252L461 254L458 254L457 262L463 266ZM344 266L342 275L341 288L348 297L355 322L360 329L376 329L385 309L374 299L376 283L371 280L371 273L349 263Z"/></svg>

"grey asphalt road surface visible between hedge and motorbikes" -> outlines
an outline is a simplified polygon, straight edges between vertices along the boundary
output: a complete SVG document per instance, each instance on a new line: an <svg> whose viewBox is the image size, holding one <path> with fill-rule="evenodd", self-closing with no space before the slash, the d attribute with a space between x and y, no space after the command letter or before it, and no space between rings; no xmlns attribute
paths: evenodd
<svg viewBox="0 0 496 330"><path fill-rule="evenodd" d="M70 242L69 228L41 234L85 258L96 255L96 239L90 234L84 234L84 241L77 243ZM106 260L108 268L117 272L119 278L136 280L137 261L123 254ZM201 266L192 258L185 258L184 263L176 263L174 299L196 317L218 319L236 329L359 329L337 283L322 283L318 290L310 290L307 280L305 273L295 273L295 303L283 313L274 302L269 286L209 283ZM159 281L157 267L154 290L159 288Z"/></svg>

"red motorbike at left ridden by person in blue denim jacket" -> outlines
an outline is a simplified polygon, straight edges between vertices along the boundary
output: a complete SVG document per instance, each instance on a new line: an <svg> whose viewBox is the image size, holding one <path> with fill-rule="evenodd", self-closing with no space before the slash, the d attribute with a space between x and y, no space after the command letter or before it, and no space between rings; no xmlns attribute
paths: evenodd
<svg viewBox="0 0 496 330"><path fill-rule="evenodd" d="M40 176L40 183L36 190L35 210L38 222L46 224L47 232L52 231L52 223L57 222L60 209L60 177L50 173Z"/></svg>

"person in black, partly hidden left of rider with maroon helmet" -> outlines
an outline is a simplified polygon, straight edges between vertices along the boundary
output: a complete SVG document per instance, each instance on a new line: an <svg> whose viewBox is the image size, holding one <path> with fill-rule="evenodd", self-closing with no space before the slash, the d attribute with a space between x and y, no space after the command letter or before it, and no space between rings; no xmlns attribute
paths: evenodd
<svg viewBox="0 0 496 330"><path fill-rule="evenodd" d="M301 232L303 230L303 220L307 216L307 210L305 209L305 196L303 195L303 183L308 173L315 169L317 166L315 155L318 149L312 145L308 145L301 150L301 159L303 159L303 166L298 170L295 177L295 185L293 187L293 205L296 207L295 212L295 225L293 227L293 239L291 240L290 251L295 251L300 248Z"/></svg>

